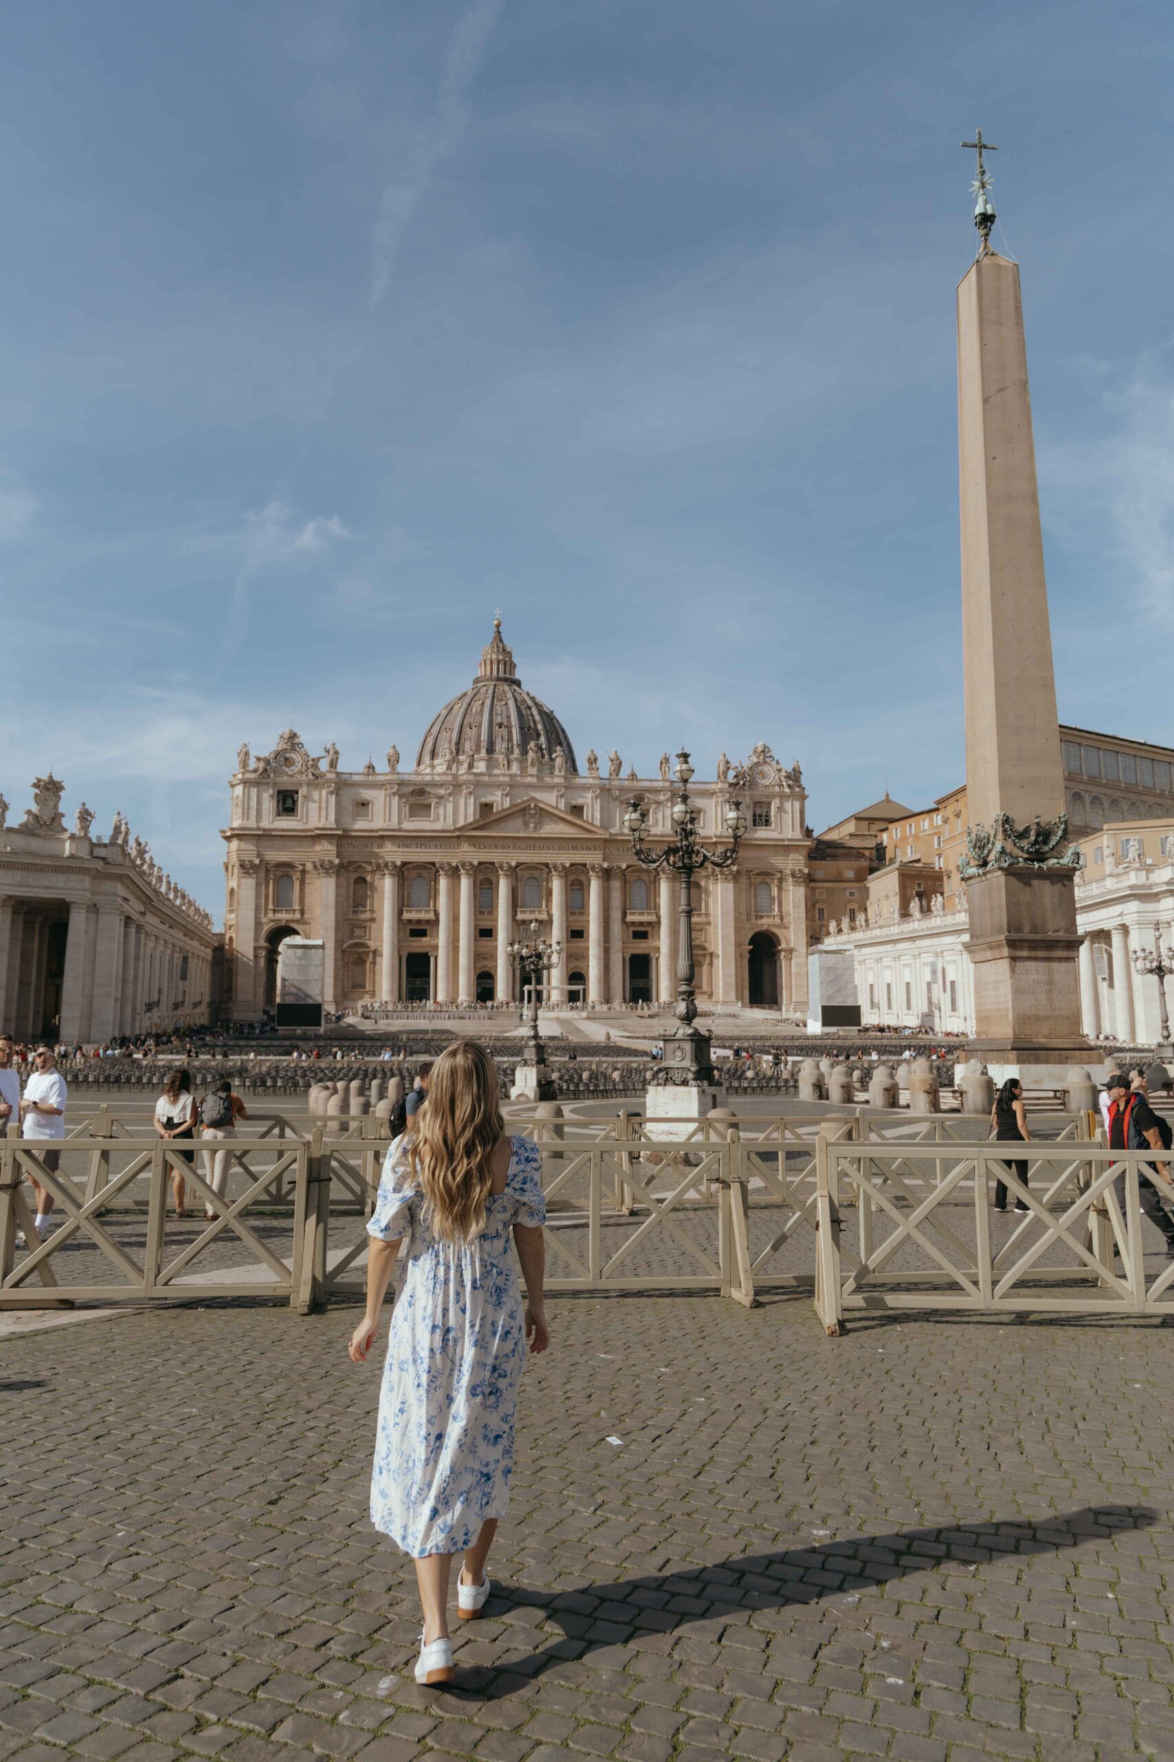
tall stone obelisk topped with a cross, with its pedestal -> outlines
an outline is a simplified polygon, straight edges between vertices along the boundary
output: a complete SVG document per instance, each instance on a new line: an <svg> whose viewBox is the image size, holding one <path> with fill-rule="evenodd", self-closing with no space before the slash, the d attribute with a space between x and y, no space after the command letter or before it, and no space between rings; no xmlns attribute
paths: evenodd
<svg viewBox="0 0 1174 1762"><path fill-rule="evenodd" d="M1019 266L991 250L979 134L979 255L958 287L966 886L975 1041L991 1077L1060 1080L1081 1031L1075 872L1063 819L1044 539ZM1019 833L1019 837L1016 837Z"/></svg>

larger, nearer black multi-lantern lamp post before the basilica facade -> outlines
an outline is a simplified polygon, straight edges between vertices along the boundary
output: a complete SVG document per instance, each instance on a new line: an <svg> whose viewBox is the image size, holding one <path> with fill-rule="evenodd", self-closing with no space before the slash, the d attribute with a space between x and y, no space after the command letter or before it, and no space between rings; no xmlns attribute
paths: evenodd
<svg viewBox="0 0 1174 1762"><path fill-rule="evenodd" d="M720 851L711 851L704 846L697 837L697 811L688 800L688 781L693 775L688 752L678 752L676 761L676 775L681 788L676 791L676 800L672 802L672 825L676 826L672 844L665 844L660 851L644 848L648 814L639 802L628 802L623 823L632 835L632 851L637 862L644 863L646 869L671 869L681 881L676 1010L672 1011L681 1025L665 1040L664 1064L653 1071L651 1082L701 1087L702 1084L715 1082L715 1075L709 1034L701 1027L693 1027L697 1020L697 997L693 996L693 876L699 869L734 867L737 862L737 846L746 830L746 816L743 814L741 800L732 796L725 809L730 842Z"/></svg>

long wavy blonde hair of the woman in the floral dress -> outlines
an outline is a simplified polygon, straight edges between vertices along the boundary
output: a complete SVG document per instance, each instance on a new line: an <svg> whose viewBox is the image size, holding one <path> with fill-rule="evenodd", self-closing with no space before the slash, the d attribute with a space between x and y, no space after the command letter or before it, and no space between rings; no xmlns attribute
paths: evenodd
<svg viewBox="0 0 1174 1762"><path fill-rule="evenodd" d="M489 1163L503 1136L496 1066L475 1040L458 1040L433 1064L405 1145L424 1219L444 1242L470 1242L484 1230Z"/></svg>

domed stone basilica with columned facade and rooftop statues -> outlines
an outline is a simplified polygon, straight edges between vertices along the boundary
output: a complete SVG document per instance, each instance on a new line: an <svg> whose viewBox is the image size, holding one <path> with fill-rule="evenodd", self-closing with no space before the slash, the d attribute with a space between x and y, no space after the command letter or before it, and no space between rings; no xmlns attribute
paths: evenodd
<svg viewBox="0 0 1174 1762"><path fill-rule="evenodd" d="M672 833L669 759L623 775L618 752L584 770L560 719L528 692L500 620L472 685L433 717L415 765L340 770L287 729L232 777L227 983L236 1020L275 1001L289 936L322 941L327 1010L509 1003L509 944L537 922L561 953L551 1008L618 1008L676 996L676 883L635 860L623 828L635 796L648 846ZM722 756L690 786L701 835L725 844L743 800L737 867L693 883L697 994L716 1006L806 1011L806 795L799 766L759 745Z"/></svg>

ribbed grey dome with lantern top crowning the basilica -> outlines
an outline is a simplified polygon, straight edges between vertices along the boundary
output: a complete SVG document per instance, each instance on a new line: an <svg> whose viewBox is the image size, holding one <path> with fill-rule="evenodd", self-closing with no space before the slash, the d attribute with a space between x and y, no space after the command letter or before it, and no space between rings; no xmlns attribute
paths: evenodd
<svg viewBox="0 0 1174 1762"><path fill-rule="evenodd" d="M415 759L417 770L445 770L456 759L489 756L558 763L576 775L574 747L553 710L528 692L517 678L514 652L502 638L502 620L493 620L493 640L481 650L477 678L459 698L445 703L429 722Z"/></svg>

